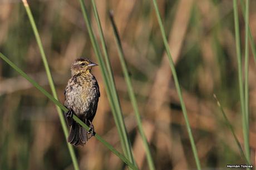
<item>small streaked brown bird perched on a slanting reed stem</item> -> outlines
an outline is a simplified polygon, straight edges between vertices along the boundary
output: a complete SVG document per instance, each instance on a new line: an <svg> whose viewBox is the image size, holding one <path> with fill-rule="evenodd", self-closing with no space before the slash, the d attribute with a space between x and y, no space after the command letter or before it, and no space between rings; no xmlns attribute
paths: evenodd
<svg viewBox="0 0 256 170"><path fill-rule="evenodd" d="M73 146L83 146L94 134L92 120L95 117L100 97L100 88L97 79L91 73L92 67L98 64L88 58L77 58L71 64L71 78L64 91L65 113L68 126L71 126L67 142ZM87 124L88 131L73 120L75 114ZM90 134L90 137L88 137Z"/></svg>

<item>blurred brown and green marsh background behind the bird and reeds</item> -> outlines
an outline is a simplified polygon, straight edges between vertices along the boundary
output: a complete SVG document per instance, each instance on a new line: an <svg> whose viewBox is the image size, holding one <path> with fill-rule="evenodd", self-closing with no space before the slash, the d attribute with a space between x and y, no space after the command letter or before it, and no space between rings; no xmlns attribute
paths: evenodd
<svg viewBox="0 0 256 170"><path fill-rule="evenodd" d="M78 1L28 1L43 42L58 97L78 57L96 62ZM90 1L85 1L92 15ZM159 0L201 166L225 169L244 163L219 111L219 98L243 146L232 1ZM125 123L140 169L149 169L122 75L108 11L114 11L156 169L196 169L193 152L151 1L96 0ZM91 17L97 36L96 22ZM256 40L256 2L250 1ZM239 6L244 49L244 19ZM50 91L40 52L21 1L0 0L0 52ZM242 50L244 54L244 50ZM249 53L250 148L256 148L256 69ZM101 97L96 132L119 151L120 139L100 69L93 68ZM55 105L0 59L0 169L73 169ZM127 169L95 138L75 148L81 169Z"/></svg>

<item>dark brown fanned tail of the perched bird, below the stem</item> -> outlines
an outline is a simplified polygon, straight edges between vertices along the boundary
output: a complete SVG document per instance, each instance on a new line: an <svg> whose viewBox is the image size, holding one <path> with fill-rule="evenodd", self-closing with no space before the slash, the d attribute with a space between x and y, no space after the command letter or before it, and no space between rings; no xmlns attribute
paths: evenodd
<svg viewBox="0 0 256 170"><path fill-rule="evenodd" d="M73 121L67 142L73 146L83 146L88 141L87 131L80 124Z"/></svg>

